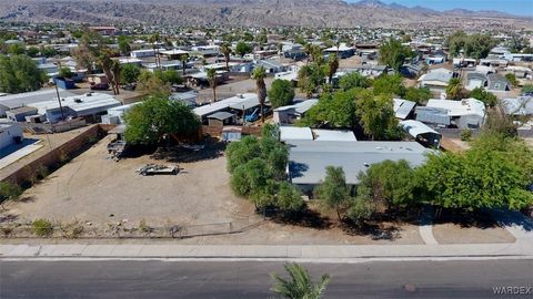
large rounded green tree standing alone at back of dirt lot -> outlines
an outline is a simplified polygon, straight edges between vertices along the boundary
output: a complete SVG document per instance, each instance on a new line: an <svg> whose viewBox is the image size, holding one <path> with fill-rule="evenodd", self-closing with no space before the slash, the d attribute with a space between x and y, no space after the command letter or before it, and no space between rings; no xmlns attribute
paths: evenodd
<svg viewBox="0 0 533 299"><path fill-rule="evenodd" d="M124 137L132 144L155 144L165 135L191 135L200 127L200 121L189 106L165 96L149 96L133 106L124 120Z"/></svg>

